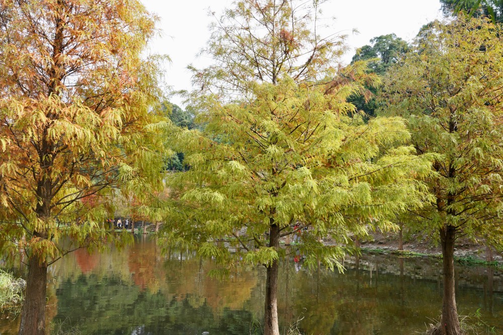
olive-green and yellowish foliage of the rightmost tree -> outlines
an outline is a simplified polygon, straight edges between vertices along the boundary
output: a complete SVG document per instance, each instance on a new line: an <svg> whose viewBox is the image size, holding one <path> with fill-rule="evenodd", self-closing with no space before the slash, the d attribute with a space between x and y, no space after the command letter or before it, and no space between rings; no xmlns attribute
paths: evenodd
<svg viewBox="0 0 503 335"><path fill-rule="evenodd" d="M450 226L470 238L503 243L501 36L487 18L434 22L418 38L416 52L387 76L388 115L407 118L418 153L443 156L429 182L435 201L413 211L422 223L417 229L427 234Z"/></svg>

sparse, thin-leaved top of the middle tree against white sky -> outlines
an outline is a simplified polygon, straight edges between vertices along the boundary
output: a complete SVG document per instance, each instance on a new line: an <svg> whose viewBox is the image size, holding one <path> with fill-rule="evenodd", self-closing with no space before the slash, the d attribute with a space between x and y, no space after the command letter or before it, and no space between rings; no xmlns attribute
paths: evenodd
<svg viewBox="0 0 503 335"><path fill-rule="evenodd" d="M191 97L211 92L230 101L246 96L254 82L276 84L285 74L296 82L333 75L346 36L314 33L321 4L240 0L220 17L212 13L211 37L201 54L211 56L214 64L189 66L197 88Z"/></svg>

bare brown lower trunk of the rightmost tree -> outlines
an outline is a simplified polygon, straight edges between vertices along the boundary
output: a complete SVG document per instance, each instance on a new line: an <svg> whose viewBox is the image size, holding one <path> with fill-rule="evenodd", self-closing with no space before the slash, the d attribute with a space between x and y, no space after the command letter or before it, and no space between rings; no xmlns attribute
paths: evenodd
<svg viewBox="0 0 503 335"><path fill-rule="evenodd" d="M456 227L447 226L440 231L444 266L444 300L442 304L442 335L461 335L454 281L454 242Z"/></svg>

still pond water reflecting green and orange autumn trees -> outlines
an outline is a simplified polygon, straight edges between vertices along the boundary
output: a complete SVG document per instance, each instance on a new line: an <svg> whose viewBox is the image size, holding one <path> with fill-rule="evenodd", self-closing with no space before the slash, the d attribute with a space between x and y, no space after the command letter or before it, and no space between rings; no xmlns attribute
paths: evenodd
<svg viewBox="0 0 503 335"><path fill-rule="evenodd" d="M282 330L298 321L307 334L412 334L441 310L441 264L429 259L364 255L345 261L345 274L310 272L298 257L283 262L278 310ZM261 334L265 271L208 277L211 262L173 252L153 238L89 255L77 250L49 270L47 317L82 335ZM503 273L456 269L459 312L480 309L503 333ZM0 334L16 334L19 318L0 318Z"/></svg>

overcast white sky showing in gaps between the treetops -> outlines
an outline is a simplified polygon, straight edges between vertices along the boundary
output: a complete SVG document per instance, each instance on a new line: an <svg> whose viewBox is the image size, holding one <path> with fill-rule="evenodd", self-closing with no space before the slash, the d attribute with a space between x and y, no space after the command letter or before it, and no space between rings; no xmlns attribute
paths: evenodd
<svg viewBox="0 0 503 335"><path fill-rule="evenodd" d="M148 11L160 17L158 28L162 36L150 45L150 52L167 54L172 63L166 64L165 83L174 90L191 89L190 63L196 66L208 64L208 59L196 54L209 38L208 8L217 14L229 7L231 0L141 0ZM347 31L351 51L343 61L348 63L354 50L373 37L395 33L411 41L426 23L440 18L439 0L330 0L323 4L323 17L336 17L333 32ZM359 34L353 34L357 29ZM183 106L180 98L170 99Z"/></svg>

